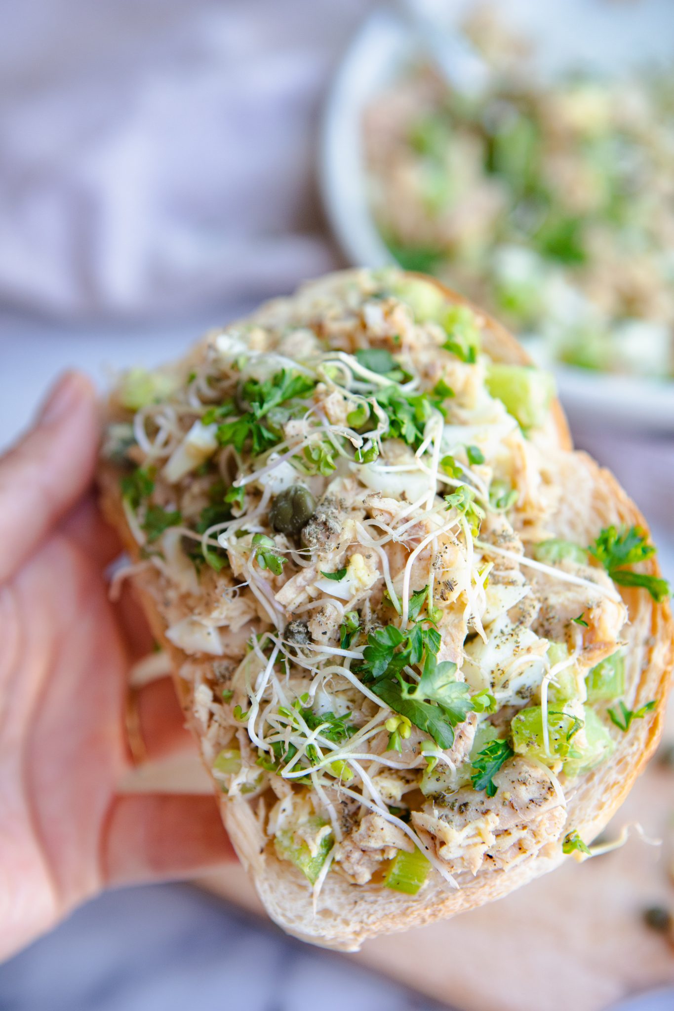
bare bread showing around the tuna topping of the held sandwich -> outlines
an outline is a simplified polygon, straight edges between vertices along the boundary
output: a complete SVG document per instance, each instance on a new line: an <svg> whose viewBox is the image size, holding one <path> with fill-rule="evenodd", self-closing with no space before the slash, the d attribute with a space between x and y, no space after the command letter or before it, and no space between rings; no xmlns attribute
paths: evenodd
<svg viewBox="0 0 674 1011"><path fill-rule="evenodd" d="M332 275L321 284L328 287L344 284L350 276ZM465 304L460 296L439 287L449 302ZM265 309L258 318L264 319L264 313ZM483 316L482 320L482 349L492 361L527 362L522 349L502 327L488 317ZM209 339L191 352L190 367L203 358L208 346ZM114 415L114 407L112 410ZM536 438L546 447L549 464L555 468L561 488L552 521L555 537L584 545L590 544L599 530L611 525L638 525L646 531L643 517L612 475L586 454L573 452L559 403L553 403L549 420ZM119 476L115 465L101 464L102 508L132 560L138 562L142 551L124 509ZM644 572L658 575L654 558L643 565ZM209 572L207 578L217 589L220 577ZM188 618L189 609L185 599L173 591L165 566L150 562L133 576L133 581L158 642L172 657L178 697L189 726L201 742L210 771L212 728L209 731L203 688L206 686L208 692L208 686L217 682L220 660L205 653L187 653L167 638L169 625L176 622L177 616ZM222 577L222 584L229 582ZM462 880L457 890L450 889L440 875L435 875L415 896L383 888L381 881L356 885L341 875L328 874L314 908L306 878L288 859L279 858L268 838L259 797L227 799L221 792L221 783L215 778L224 824L270 916L295 936L327 947L353 950L375 934L428 923L483 905L554 868L565 858L561 839L569 828L578 831L584 840L594 838L613 815L656 746L672 662L669 606L656 604L641 588L622 587L620 595L629 613L629 624L621 633L627 643L625 697L634 700L635 709L652 700L659 705L644 718L635 720L629 733L616 737L615 750L607 761L575 782L567 798L564 828L556 845L541 847L507 870L483 865L470 880ZM240 658L235 651L230 655L236 660Z"/></svg>

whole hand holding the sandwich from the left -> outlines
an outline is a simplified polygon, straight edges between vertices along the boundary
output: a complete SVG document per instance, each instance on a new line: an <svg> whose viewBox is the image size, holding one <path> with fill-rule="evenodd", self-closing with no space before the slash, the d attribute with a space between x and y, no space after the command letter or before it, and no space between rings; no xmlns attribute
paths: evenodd
<svg viewBox="0 0 674 1011"><path fill-rule="evenodd" d="M152 648L92 493L94 390L70 373L0 458L0 958L107 886L232 856L208 797L118 795L130 664ZM140 690L150 757L189 746L169 678Z"/></svg>

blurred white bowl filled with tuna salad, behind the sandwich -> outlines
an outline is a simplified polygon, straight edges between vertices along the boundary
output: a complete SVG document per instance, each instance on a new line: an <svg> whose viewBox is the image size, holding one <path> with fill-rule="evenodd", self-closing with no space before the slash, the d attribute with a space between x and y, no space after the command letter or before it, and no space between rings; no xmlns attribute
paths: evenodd
<svg viewBox="0 0 674 1011"><path fill-rule="evenodd" d="M326 107L322 189L349 259L428 272L554 368L572 413L674 430L674 7L452 0L479 94L392 10Z"/></svg>

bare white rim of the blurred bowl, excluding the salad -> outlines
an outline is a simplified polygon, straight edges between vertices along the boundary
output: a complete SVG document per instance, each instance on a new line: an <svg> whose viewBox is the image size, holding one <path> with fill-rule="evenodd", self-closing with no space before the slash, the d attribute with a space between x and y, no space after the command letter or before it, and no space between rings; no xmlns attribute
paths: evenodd
<svg viewBox="0 0 674 1011"><path fill-rule="evenodd" d="M444 0L448 24L461 21L470 0ZM499 0L498 14L534 42L537 69L554 77L585 66L619 74L674 58L672 0ZM372 220L361 122L365 107L414 55L412 33L390 9L375 11L349 48L326 102L320 145L320 185L327 216L351 263L392 262ZM601 375L555 365L560 394L572 417L611 428L674 432L674 382Z"/></svg>

